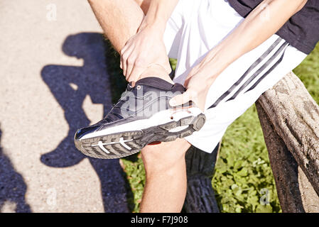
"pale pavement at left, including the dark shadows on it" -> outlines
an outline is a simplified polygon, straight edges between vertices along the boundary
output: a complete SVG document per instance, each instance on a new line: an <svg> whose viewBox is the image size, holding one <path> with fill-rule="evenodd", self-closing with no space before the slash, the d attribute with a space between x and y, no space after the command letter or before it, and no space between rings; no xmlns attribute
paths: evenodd
<svg viewBox="0 0 319 227"><path fill-rule="evenodd" d="M0 1L0 31L0 211L128 212L119 160L73 145L112 106L90 5Z"/></svg>

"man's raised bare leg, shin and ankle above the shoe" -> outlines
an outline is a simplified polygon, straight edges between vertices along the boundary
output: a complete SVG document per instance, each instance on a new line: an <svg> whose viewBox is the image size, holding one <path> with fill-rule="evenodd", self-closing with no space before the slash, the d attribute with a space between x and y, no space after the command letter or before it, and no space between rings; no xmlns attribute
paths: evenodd
<svg viewBox="0 0 319 227"><path fill-rule="evenodd" d="M119 52L135 35L147 12L151 0L88 0L104 34L114 49ZM151 65L142 74L144 77L160 77L173 83L166 70L160 65Z"/></svg>

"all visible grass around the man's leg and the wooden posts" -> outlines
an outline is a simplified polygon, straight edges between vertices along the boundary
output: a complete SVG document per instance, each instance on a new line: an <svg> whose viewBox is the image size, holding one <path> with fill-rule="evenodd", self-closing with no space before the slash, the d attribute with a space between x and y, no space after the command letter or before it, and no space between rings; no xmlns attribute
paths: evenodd
<svg viewBox="0 0 319 227"><path fill-rule="evenodd" d="M117 101L126 83L118 67L119 56L112 51L107 52L107 60L112 78L112 100ZM176 61L171 60L171 64L174 68ZM319 45L293 72L319 103ZM121 162L133 192L133 198L130 199L134 201L133 211L138 212L145 184L143 162L139 156L135 160L122 159ZM281 212L254 105L227 128L215 166L212 187L221 212ZM265 197L269 199L269 204L263 206L260 199L264 201Z"/></svg>

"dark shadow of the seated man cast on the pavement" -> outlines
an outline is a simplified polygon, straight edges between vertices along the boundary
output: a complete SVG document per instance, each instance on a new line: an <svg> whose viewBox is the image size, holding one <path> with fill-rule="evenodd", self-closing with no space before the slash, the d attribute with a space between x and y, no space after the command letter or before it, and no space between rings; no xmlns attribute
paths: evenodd
<svg viewBox="0 0 319 227"><path fill-rule="evenodd" d="M107 61L104 38L100 33L78 33L69 35L63 43L63 52L84 60L82 67L46 65L41 76L55 99L64 110L69 132L55 150L40 157L50 167L70 167L88 158L76 150L73 137L78 128L90 122L82 104L87 95L94 104L103 104L104 116L112 107L108 87ZM101 116L102 118L102 116ZM129 184L119 165L119 160L89 158L101 181L105 212L129 212L127 197Z"/></svg>

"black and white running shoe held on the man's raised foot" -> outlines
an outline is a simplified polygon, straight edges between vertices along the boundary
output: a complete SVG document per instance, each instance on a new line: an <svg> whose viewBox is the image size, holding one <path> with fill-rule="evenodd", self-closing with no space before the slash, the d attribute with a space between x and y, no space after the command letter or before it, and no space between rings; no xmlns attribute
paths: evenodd
<svg viewBox="0 0 319 227"><path fill-rule="evenodd" d="M168 142L199 131L205 115L190 101L171 106L169 100L185 92L182 84L158 77L127 85L121 99L102 121L75 133L75 147L83 154L114 159L138 153L149 143Z"/></svg>

